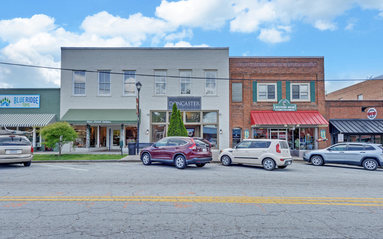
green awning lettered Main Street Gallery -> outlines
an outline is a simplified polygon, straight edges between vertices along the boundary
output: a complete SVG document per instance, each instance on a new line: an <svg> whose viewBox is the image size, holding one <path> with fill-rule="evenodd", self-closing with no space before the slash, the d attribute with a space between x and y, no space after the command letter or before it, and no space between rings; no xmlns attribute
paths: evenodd
<svg viewBox="0 0 383 239"><path fill-rule="evenodd" d="M137 124L137 114L136 109L69 109L60 120L70 124Z"/></svg>

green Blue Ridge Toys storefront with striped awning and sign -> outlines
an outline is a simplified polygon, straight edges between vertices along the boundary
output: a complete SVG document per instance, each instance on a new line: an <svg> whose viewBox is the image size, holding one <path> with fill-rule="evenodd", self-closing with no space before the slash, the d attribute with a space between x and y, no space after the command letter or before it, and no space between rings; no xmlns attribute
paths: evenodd
<svg viewBox="0 0 383 239"><path fill-rule="evenodd" d="M60 88L0 88L0 102L0 129L31 132L34 150L45 150L34 129L60 119Z"/></svg>

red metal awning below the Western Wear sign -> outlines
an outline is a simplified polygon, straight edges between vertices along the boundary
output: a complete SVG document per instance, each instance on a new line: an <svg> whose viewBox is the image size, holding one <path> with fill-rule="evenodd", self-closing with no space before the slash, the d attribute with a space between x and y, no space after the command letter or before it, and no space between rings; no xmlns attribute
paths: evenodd
<svg viewBox="0 0 383 239"><path fill-rule="evenodd" d="M251 111L251 127L327 127L318 111Z"/></svg>

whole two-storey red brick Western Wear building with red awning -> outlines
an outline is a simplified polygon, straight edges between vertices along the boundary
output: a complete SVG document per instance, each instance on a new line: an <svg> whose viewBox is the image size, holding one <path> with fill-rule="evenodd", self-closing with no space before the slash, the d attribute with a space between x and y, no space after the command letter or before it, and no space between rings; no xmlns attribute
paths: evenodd
<svg viewBox="0 0 383 239"><path fill-rule="evenodd" d="M229 57L229 76L230 146L280 138L299 155L330 145L323 57Z"/></svg>

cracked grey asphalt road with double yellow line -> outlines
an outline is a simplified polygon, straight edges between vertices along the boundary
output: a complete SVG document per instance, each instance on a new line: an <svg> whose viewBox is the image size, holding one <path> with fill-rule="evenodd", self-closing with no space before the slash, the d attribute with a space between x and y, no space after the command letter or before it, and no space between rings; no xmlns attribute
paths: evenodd
<svg viewBox="0 0 383 239"><path fill-rule="evenodd" d="M383 238L383 168L0 166L5 238Z"/></svg>

